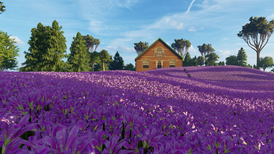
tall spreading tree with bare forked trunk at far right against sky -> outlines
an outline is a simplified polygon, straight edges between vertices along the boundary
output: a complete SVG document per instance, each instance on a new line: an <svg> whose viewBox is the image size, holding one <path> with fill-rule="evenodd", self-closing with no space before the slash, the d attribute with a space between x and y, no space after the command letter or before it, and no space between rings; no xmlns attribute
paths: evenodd
<svg viewBox="0 0 274 154"><path fill-rule="evenodd" d="M250 23L245 24L237 35L247 45L257 52L257 66L260 61L260 53L267 44L274 31L274 20L267 21L266 17L250 17ZM253 43L253 44L252 44ZM264 44L265 43L265 44Z"/></svg>

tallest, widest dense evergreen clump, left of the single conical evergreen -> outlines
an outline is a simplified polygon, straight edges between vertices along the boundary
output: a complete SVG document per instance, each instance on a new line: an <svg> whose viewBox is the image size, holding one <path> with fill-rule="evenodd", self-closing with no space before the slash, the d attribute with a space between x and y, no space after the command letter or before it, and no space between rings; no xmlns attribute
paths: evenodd
<svg viewBox="0 0 274 154"><path fill-rule="evenodd" d="M20 71L64 71L67 64L62 59L67 57L67 46L61 29L57 21L52 22L52 27L39 23L31 29L29 52L24 52L26 62Z"/></svg>

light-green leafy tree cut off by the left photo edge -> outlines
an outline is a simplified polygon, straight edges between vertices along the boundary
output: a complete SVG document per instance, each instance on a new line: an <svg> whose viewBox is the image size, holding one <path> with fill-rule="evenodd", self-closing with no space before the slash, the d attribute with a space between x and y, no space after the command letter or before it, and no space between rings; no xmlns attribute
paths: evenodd
<svg viewBox="0 0 274 154"><path fill-rule="evenodd" d="M17 67L15 56L19 56L19 48L14 44L15 38L6 32L0 31L0 71L13 69Z"/></svg>

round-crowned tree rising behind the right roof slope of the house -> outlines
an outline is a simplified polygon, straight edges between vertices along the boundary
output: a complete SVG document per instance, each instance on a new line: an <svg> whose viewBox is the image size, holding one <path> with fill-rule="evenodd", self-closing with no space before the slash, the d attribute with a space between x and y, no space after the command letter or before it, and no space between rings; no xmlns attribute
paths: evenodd
<svg viewBox="0 0 274 154"><path fill-rule="evenodd" d="M185 39L174 39L175 43L171 44L171 47L178 52L181 57L185 57L186 53L188 52L191 43L189 40Z"/></svg>

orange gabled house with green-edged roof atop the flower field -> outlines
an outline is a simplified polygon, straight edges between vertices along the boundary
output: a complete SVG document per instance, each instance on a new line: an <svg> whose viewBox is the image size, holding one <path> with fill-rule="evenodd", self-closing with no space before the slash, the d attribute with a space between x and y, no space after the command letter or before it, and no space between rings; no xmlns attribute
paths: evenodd
<svg viewBox="0 0 274 154"><path fill-rule="evenodd" d="M135 59L136 71L157 68L182 67L182 57L166 42L158 38Z"/></svg>

